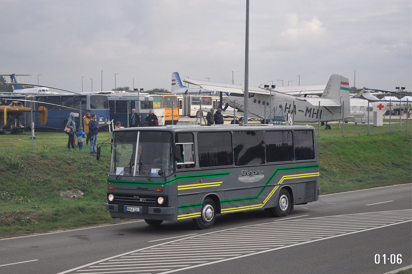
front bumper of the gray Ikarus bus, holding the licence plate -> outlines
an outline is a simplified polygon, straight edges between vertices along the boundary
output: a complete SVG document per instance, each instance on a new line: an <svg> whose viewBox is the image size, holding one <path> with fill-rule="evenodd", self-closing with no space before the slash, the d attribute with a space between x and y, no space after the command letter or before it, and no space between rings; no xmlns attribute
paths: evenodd
<svg viewBox="0 0 412 274"><path fill-rule="evenodd" d="M174 207L129 206L107 203L106 210L110 212L112 218L176 221Z"/></svg>

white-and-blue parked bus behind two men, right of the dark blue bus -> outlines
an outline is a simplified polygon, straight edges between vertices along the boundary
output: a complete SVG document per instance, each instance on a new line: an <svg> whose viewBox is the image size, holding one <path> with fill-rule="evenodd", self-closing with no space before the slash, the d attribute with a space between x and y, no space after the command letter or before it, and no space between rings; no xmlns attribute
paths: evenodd
<svg viewBox="0 0 412 274"><path fill-rule="evenodd" d="M129 128L131 110L135 109L140 116L140 126L147 126L147 113L153 110L153 97L138 94L107 94L109 100L110 120L116 125Z"/></svg>

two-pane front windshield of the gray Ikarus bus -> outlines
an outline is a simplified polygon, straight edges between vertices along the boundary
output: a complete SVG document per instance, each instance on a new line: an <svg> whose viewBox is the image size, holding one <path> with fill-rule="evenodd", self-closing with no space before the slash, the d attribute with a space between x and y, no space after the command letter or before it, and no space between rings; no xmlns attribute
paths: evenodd
<svg viewBox="0 0 412 274"><path fill-rule="evenodd" d="M139 137L139 139L137 139ZM113 161L110 172L116 175L159 177L173 171L172 135L170 132L121 131L114 134ZM138 145L136 157L136 144ZM135 163L136 167L135 167Z"/></svg>

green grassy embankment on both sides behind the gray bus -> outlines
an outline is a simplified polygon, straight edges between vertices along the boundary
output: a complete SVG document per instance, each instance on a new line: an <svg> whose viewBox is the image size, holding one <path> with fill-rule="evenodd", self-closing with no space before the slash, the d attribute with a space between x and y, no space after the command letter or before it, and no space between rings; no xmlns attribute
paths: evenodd
<svg viewBox="0 0 412 274"><path fill-rule="evenodd" d="M317 125L314 125L317 128ZM411 182L411 132L406 124L370 127L353 124L342 130L321 128L318 151L322 193ZM412 129L412 125L409 125ZM101 161L83 151L66 149L67 135L36 132L0 135L0 237L114 223L105 211L110 146ZM99 142L108 139L100 132ZM63 199L60 191L78 189L84 196Z"/></svg>

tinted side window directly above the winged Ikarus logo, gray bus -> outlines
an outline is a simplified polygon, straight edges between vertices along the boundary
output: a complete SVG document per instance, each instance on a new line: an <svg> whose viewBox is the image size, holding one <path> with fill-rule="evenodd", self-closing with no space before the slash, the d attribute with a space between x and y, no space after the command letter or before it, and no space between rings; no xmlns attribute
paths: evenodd
<svg viewBox="0 0 412 274"><path fill-rule="evenodd" d="M234 164L262 165L265 163L265 145L263 131L234 131L233 132Z"/></svg>

